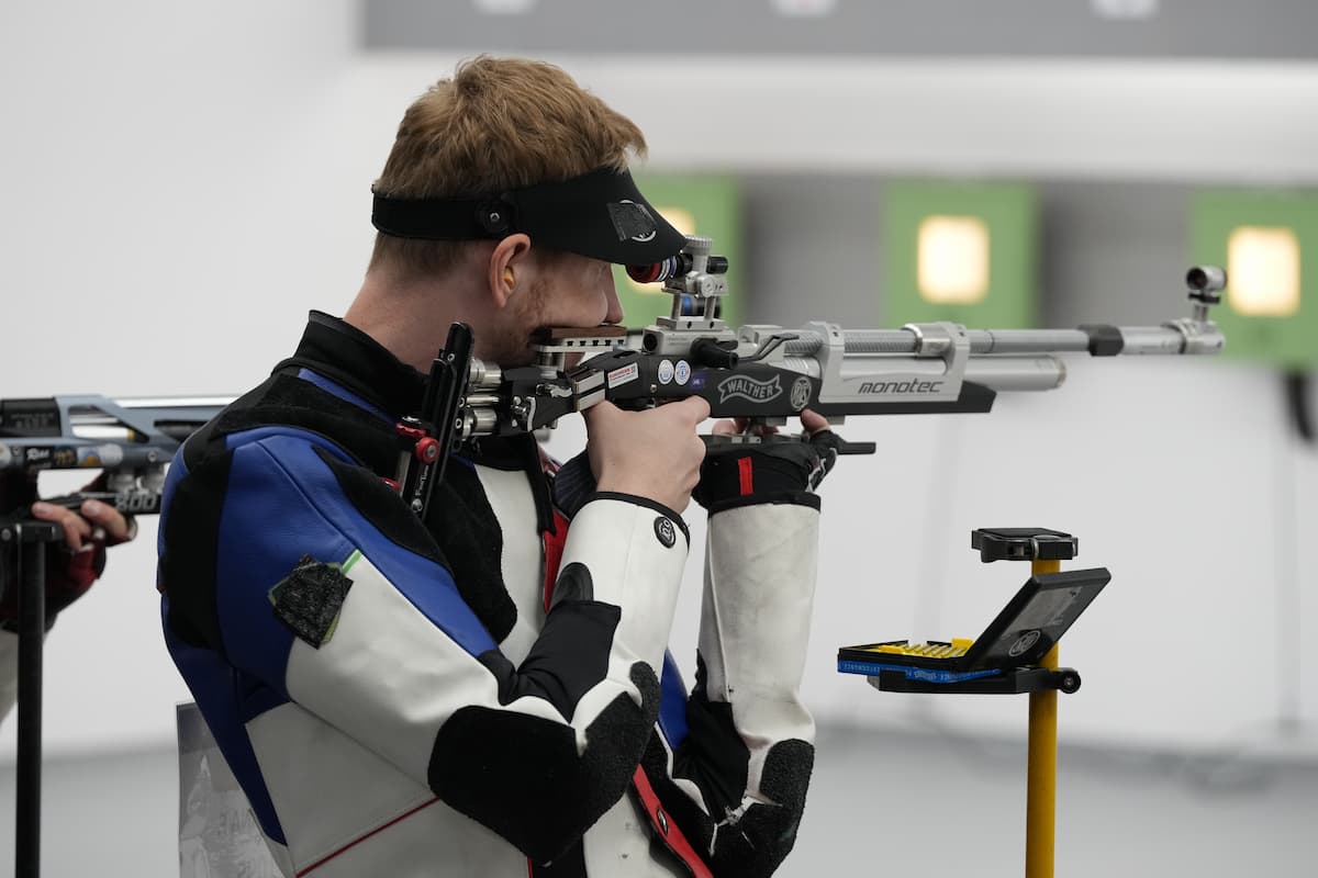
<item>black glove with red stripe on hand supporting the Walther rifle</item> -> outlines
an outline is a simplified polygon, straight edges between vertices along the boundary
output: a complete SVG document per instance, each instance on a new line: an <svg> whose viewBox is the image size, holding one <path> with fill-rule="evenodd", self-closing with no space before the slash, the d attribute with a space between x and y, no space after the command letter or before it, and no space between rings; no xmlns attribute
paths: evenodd
<svg viewBox="0 0 1318 878"><path fill-rule="evenodd" d="M713 438L692 498L710 515L758 503L820 507L815 490L837 461L842 438L818 430L809 438L766 436L759 442Z"/></svg>

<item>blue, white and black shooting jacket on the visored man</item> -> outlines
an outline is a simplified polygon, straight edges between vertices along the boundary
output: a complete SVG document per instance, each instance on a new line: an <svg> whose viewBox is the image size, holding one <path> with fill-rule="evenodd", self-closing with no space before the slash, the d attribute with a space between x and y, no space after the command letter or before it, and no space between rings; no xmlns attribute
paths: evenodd
<svg viewBox="0 0 1318 878"><path fill-rule="evenodd" d="M169 650L286 875L767 875L813 762L797 699L818 504L710 516L696 686L666 653L689 536L531 436L387 479L422 376L312 312L169 471Z"/></svg>

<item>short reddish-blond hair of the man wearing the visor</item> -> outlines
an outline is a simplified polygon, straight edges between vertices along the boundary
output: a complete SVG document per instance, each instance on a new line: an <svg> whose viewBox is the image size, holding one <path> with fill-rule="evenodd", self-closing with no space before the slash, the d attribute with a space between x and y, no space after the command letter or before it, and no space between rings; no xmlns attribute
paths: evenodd
<svg viewBox="0 0 1318 878"><path fill-rule="evenodd" d="M556 183L646 154L637 125L561 68L481 55L416 99L373 191L394 197L473 197ZM401 276L448 270L464 241L376 236L370 269Z"/></svg>

